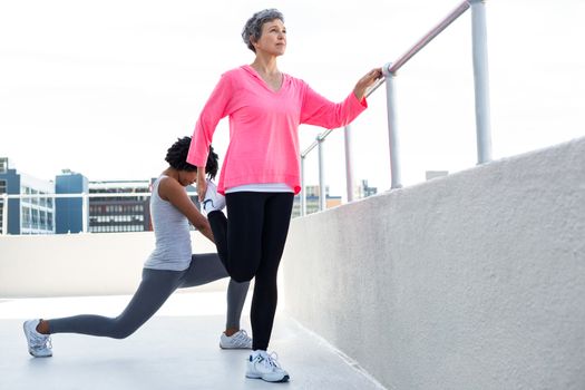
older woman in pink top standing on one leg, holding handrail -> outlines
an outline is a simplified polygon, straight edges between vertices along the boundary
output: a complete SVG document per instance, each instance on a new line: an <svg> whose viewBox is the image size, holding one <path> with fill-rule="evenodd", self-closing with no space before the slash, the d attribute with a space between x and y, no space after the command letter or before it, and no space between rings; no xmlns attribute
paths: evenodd
<svg viewBox="0 0 585 390"><path fill-rule="evenodd" d="M222 76L197 120L187 162L198 168L199 198L227 272L238 282L255 277L253 352L246 377L283 382L290 376L266 349L276 311L279 263L293 198L301 189L298 128L301 124L337 128L352 121L367 108L365 89L381 77L381 69L368 72L342 103L334 104L279 69L276 60L286 49L280 11L254 13L242 38L255 59ZM226 116L231 139L218 186L207 182L206 188L208 146ZM220 212L225 205L228 220Z"/></svg>

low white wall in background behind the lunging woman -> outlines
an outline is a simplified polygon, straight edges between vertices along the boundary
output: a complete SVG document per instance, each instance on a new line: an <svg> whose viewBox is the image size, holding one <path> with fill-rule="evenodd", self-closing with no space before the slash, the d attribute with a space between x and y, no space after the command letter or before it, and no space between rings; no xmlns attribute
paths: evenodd
<svg viewBox="0 0 585 390"><path fill-rule="evenodd" d="M216 252L199 233L192 242L195 253ZM131 294L154 245L152 232L0 236L0 298Z"/></svg>

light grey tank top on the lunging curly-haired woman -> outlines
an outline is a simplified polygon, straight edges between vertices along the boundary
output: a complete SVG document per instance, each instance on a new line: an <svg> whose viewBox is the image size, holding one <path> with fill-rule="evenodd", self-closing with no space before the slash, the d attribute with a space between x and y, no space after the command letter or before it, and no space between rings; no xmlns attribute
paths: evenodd
<svg viewBox="0 0 585 390"><path fill-rule="evenodd" d="M158 185L166 175L153 184L150 217L156 247L146 260L145 269L184 271L191 264L191 234L187 217L158 195Z"/></svg>

